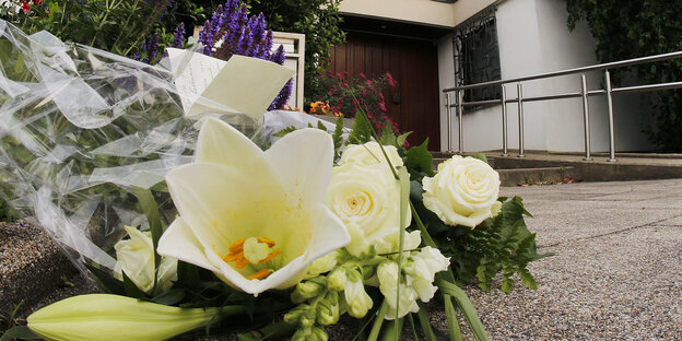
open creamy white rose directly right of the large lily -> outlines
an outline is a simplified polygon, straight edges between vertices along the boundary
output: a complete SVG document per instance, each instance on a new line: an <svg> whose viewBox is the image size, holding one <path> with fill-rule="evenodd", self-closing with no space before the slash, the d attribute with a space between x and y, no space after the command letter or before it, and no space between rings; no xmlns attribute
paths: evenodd
<svg viewBox="0 0 682 341"><path fill-rule="evenodd" d="M385 165L334 167L325 203L346 225L357 225L364 238L355 236L355 242L372 245L400 228L400 185ZM411 216L408 211L405 223Z"/></svg>

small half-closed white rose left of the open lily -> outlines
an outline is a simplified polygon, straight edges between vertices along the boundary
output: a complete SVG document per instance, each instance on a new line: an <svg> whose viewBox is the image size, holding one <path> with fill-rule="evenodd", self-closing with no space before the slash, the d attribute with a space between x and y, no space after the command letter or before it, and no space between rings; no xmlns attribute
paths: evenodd
<svg viewBox="0 0 682 341"><path fill-rule="evenodd" d="M154 289L154 245L150 233L143 233L126 226L130 238L122 239L114 245L116 249L116 266L114 272L122 279L122 272L148 295L166 292L177 280L177 259L162 257L158 266L158 280Z"/></svg>

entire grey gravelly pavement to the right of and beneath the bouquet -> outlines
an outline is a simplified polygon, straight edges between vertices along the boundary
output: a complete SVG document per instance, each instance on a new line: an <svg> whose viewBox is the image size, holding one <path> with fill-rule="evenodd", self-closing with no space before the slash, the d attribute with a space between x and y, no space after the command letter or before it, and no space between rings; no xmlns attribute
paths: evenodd
<svg viewBox="0 0 682 341"><path fill-rule="evenodd" d="M467 289L492 340L682 340L682 179L503 188L502 195L525 199L539 250L556 256L530 266L537 291ZM93 290L77 284L36 306ZM445 316L435 306L432 324L446 340ZM349 325L331 329L330 340L350 340Z"/></svg>

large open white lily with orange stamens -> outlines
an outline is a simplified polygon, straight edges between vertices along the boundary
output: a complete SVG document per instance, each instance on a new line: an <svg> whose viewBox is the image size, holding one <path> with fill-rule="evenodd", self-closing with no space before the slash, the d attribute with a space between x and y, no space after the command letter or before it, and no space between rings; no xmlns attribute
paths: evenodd
<svg viewBox="0 0 682 341"><path fill-rule="evenodd" d="M166 175L180 216L162 236L160 255L258 295L295 285L315 259L350 242L322 203L333 158L329 134L298 130L263 152L208 118L195 158Z"/></svg>

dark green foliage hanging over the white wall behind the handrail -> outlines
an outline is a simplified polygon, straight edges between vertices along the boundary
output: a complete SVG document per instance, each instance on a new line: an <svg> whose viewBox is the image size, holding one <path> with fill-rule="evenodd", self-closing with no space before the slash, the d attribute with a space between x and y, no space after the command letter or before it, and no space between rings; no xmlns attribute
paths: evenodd
<svg viewBox="0 0 682 341"><path fill-rule="evenodd" d="M600 61L616 61L682 49L682 2L668 0L567 0L568 27L586 20ZM657 62L635 70L642 83L682 80L682 61ZM619 77L614 78L615 81ZM655 129L645 128L661 151L682 151L682 91L647 94Z"/></svg>

